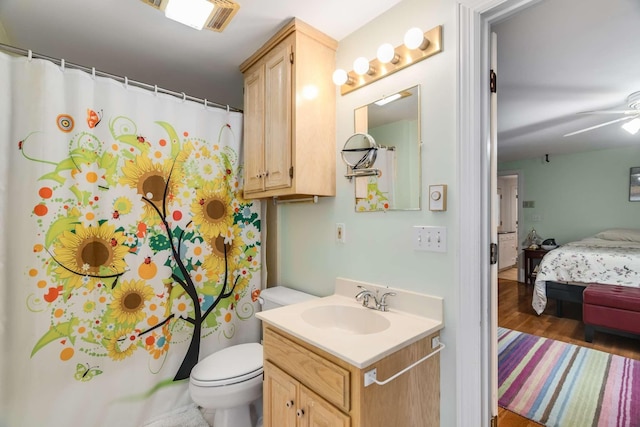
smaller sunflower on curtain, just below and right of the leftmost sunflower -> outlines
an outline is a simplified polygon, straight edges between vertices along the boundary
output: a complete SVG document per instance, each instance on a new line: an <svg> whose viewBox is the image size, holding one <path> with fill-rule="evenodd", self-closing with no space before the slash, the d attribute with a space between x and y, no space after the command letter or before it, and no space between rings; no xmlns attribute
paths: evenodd
<svg viewBox="0 0 640 427"><path fill-rule="evenodd" d="M144 319L144 303L153 298L153 288L143 280L122 282L113 291L111 316L119 323L135 325Z"/></svg>

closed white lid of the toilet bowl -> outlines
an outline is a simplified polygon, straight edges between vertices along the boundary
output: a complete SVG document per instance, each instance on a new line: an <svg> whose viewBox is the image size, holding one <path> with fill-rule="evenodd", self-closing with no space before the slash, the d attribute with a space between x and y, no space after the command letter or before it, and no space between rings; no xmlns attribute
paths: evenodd
<svg viewBox="0 0 640 427"><path fill-rule="evenodd" d="M191 370L191 380L209 386L229 385L262 374L262 345L238 344L207 356Z"/></svg>

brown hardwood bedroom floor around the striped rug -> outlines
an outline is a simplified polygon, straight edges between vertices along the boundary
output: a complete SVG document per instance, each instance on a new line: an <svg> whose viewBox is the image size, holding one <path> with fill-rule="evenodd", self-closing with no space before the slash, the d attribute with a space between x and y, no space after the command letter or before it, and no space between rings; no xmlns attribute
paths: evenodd
<svg viewBox="0 0 640 427"><path fill-rule="evenodd" d="M508 273L501 273L499 277L509 277ZM596 332L593 343L588 343L584 340L581 305L565 302L564 317L558 318L555 301L549 300L545 311L538 316L531 307L532 295L533 286L499 278L498 326L640 360L640 340ZM499 408L498 425L534 427L540 424Z"/></svg>

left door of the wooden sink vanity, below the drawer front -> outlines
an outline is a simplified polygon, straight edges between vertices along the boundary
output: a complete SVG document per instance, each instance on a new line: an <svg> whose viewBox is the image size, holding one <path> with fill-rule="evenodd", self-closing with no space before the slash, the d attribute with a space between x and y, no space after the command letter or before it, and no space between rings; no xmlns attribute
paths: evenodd
<svg viewBox="0 0 640 427"><path fill-rule="evenodd" d="M296 427L299 408L298 382L266 361L264 365L263 410L265 427Z"/></svg>

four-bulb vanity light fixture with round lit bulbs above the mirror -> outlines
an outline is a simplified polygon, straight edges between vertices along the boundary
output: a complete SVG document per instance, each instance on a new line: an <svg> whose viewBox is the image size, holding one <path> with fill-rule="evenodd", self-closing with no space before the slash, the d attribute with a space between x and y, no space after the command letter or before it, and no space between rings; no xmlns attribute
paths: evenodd
<svg viewBox="0 0 640 427"><path fill-rule="evenodd" d="M340 94L346 95L382 77L442 52L442 25L438 25L425 33L419 28L412 28L407 31L405 42L406 44L395 48L390 43L384 43L378 48L375 59L369 61L362 56L357 58L353 62L352 71L335 70L333 82L340 86Z"/></svg>

